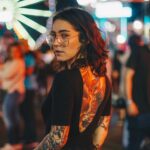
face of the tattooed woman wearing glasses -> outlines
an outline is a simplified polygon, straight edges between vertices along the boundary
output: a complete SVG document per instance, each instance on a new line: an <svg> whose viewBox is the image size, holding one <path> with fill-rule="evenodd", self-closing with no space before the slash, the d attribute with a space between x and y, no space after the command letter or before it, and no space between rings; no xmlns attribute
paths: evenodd
<svg viewBox="0 0 150 150"><path fill-rule="evenodd" d="M51 31L51 43L58 61L71 61L80 50L79 32L67 21L57 19Z"/></svg>

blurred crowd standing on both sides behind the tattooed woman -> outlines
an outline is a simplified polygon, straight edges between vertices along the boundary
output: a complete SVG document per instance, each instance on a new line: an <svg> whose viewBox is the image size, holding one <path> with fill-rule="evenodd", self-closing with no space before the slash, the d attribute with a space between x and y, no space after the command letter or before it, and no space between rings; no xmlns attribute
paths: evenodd
<svg viewBox="0 0 150 150"><path fill-rule="evenodd" d="M150 147L147 130L150 128L150 45L133 32L128 42L115 47L109 44L108 49L111 49L112 64L108 63L107 67L113 87L112 121L115 113L117 123L124 126L122 144L125 149L145 147L146 150L147 143ZM23 144L33 149L37 145L35 101L41 105L51 88L55 73L51 69L53 58L54 54L46 44L33 51L27 40L15 40L10 33L0 37L0 116L8 136L8 144L2 150L20 150ZM137 128L137 116L142 120L140 123L143 122L140 129ZM22 132L20 118L24 126Z"/></svg>

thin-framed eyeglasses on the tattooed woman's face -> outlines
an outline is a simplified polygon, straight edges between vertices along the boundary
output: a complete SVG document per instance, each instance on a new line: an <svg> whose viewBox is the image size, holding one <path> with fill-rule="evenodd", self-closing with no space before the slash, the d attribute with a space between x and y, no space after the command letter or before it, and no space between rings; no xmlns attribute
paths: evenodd
<svg viewBox="0 0 150 150"><path fill-rule="evenodd" d="M69 45L69 40L72 38L75 38L76 36L78 36L78 34L75 34L74 36L70 36L68 34L49 34L46 37L46 41L48 43L48 45L52 46L55 42L55 40L57 40L57 43L62 46L62 47L66 47Z"/></svg>

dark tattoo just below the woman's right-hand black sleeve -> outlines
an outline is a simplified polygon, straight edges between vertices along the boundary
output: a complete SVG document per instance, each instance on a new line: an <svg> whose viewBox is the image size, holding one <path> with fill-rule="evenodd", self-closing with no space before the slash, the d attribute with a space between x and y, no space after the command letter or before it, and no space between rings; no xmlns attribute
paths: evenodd
<svg viewBox="0 0 150 150"><path fill-rule="evenodd" d="M97 127L102 127L104 128L104 130L107 130L109 127L109 122L110 122L110 116L101 116L98 121Z"/></svg>

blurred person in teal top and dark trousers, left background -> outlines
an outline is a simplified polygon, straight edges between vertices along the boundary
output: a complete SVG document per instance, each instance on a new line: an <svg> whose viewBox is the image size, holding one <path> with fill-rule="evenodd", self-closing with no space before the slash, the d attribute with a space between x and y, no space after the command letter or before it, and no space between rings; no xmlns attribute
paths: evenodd
<svg viewBox="0 0 150 150"><path fill-rule="evenodd" d="M20 106L21 116L24 121L23 142L26 147L33 148L37 145L36 121L34 100L37 90L37 81L35 74L36 59L34 53L30 50L27 40L20 40L25 61L25 99Z"/></svg>

